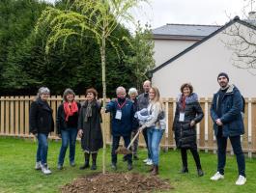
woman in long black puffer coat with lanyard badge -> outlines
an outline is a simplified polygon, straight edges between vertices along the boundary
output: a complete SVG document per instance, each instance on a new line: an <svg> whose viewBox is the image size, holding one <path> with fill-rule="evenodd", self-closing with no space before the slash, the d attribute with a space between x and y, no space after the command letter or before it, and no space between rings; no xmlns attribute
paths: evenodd
<svg viewBox="0 0 256 193"><path fill-rule="evenodd" d="M199 177L204 176L202 171L200 157L196 145L196 124L203 117L203 110L198 102L198 96L193 93L193 87L185 83L181 87L182 94L178 97L173 130L175 132L175 141L177 148L181 149L183 169L181 173L188 173L186 150L193 154L197 173Z"/></svg>

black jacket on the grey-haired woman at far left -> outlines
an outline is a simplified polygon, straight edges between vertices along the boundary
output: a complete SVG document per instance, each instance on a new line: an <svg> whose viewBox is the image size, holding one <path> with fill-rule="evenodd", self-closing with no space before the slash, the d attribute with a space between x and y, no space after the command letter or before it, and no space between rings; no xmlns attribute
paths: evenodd
<svg viewBox="0 0 256 193"><path fill-rule="evenodd" d="M29 131L33 134L54 131L52 109L41 98L31 103L29 112Z"/></svg>

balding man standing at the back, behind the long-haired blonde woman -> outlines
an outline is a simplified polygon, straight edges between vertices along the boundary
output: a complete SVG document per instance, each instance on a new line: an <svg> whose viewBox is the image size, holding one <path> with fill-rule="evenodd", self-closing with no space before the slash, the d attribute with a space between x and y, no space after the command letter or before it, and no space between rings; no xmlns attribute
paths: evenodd
<svg viewBox="0 0 256 193"><path fill-rule="evenodd" d="M148 107L150 88L151 88L151 81L146 80L143 83L144 93L140 94L137 98L138 111L140 111L143 108ZM142 133L143 133L144 140L146 142L146 146L147 146L147 149L148 149L148 158L144 159L143 162L145 162L147 165L153 165L153 162L152 162L152 159L151 159L151 153L150 153L149 148L148 148L147 128L143 129Z"/></svg>

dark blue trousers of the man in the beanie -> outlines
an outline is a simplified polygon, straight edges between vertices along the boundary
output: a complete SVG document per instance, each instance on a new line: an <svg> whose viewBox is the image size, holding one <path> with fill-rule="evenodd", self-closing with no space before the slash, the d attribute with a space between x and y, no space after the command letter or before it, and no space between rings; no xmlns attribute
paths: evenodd
<svg viewBox="0 0 256 193"><path fill-rule="evenodd" d="M239 167L239 174L245 177L245 161L242 152L240 135L229 137L234 153L237 157L237 163ZM226 149L227 149L227 137L221 135L216 136L217 140L217 171L224 175L224 167L226 165Z"/></svg>

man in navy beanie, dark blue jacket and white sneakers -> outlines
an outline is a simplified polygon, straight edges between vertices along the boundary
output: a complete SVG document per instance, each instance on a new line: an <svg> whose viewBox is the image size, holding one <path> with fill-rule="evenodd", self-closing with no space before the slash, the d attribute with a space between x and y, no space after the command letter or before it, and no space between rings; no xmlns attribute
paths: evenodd
<svg viewBox="0 0 256 193"><path fill-rule="evenodd" d="M218 163L217 172L211 179L224 179L227 138L229 138L239 167L239 179L236 181L236 184L243 185L246 179L245 161L241 145L241 135L244 133L242 123L242 95L236 86L228 84L229 77L227 73L219 73L217 82L220 89L213 96L211 117L213 119L214 134L217 141Z"/></svg>

